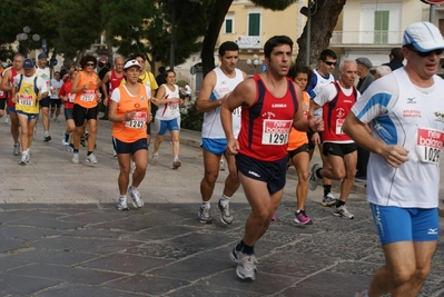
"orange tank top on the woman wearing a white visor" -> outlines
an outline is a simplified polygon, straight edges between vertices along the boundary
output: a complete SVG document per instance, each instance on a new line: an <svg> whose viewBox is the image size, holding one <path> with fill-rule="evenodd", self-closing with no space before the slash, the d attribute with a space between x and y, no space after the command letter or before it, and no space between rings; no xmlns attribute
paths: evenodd
<svg viewBox="0 0 444 297"><path fill-rule="evenodd" d="M115 122L112 125L112 137L122 142L134 142L141 138L147 138L147 115L149 110L149 96L144 85L139 85L139 92L132 96L124 86L118 87L120 100L117 105L117 115L124 116L125 112L136 111L132 120Z"/></svg>

